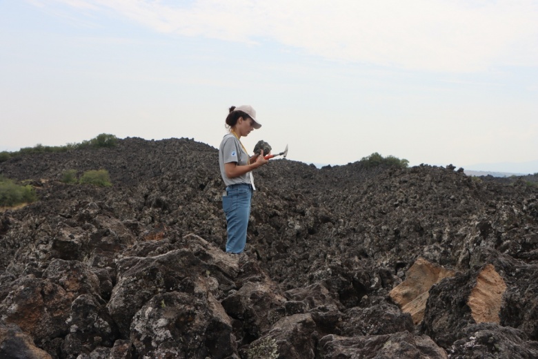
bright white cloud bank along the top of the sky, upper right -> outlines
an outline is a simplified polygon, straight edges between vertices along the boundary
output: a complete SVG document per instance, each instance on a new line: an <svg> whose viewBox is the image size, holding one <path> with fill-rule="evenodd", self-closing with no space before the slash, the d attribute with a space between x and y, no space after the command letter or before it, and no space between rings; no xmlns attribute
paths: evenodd
<svg viewBox="0 0 538 359"><path fill-rule="evenodd" d="M339 61L472 72L538 63L532 0L57 0L106 10L157 32L277 41Z"/></svg>

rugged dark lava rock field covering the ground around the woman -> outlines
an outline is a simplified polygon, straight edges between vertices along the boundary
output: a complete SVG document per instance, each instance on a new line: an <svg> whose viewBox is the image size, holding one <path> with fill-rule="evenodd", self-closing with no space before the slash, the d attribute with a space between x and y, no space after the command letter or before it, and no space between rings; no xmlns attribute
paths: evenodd
<svg viewBox="0 0 538 359"><path fill-rule="evenodd" d="M112 187L59 182L100 168ZM217 150L191 139L12 157L0 175L39 196L0 213L2 358L538 356L522 179L272 159L229 255Z"/></svg>

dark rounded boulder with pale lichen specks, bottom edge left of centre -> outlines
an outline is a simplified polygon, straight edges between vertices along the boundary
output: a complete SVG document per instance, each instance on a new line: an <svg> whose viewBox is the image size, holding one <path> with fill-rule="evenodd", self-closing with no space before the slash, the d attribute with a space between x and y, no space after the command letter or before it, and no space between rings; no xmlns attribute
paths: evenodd
<svg viewBox="0 0 538 359"><path fill-rule="evenodd" d="M147 358L223 359L237 352L230 318L203 293L155 295L132 318L130 340Z"/></svg>

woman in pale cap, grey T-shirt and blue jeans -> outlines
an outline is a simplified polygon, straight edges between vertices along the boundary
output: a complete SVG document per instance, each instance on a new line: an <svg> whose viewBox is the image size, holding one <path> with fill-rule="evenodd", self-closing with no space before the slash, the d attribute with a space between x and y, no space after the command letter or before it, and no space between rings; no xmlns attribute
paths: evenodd
<svg viewBox="0 0 538 359"><path fill-rule="evenodd" d="M246 137L252 130L260 127L252 106L230 107L230 113L226 117L226 128L229 128L230 133L224 136L219 148L219 166L226 184L222 209L228 223L228 253L239 254L245 249L250 201L252 191L256 189L251 171L269 162L263 158L263 150L259 155L248 157L248 151L241 144L241 137Z"/></svg>

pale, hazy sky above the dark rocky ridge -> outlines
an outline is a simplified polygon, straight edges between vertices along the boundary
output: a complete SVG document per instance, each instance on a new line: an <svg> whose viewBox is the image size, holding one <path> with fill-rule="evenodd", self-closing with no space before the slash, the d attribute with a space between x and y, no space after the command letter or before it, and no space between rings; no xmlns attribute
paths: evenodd
<svg viewBox="0 0 538 359"><path fill-rule="evenodd" d="M0 152L100 133L538 172L538 0L0 0Z"/></svg>

